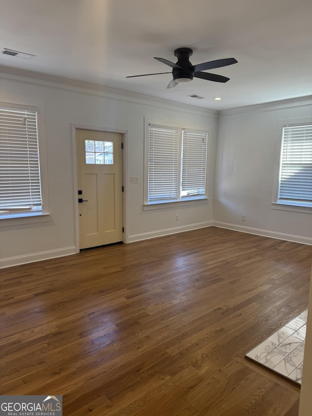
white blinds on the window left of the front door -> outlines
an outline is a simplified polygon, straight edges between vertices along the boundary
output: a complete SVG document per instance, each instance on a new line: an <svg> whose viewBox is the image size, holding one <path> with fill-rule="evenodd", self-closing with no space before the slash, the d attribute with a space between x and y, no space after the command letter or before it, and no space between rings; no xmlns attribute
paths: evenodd
<svg viewBox="0 0 312 416"><path fill-rule="evenodd" d="M0 210L41 206L37 112L0 107Z"/></svg>

